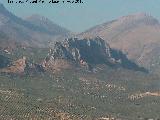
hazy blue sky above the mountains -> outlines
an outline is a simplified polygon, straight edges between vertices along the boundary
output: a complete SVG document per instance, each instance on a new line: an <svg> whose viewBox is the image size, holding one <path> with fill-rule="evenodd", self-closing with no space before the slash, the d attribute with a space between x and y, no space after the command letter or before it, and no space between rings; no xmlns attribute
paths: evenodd
<svg viewBox="0 0 160 120"><path fill-rule="evenodd" d="M46 0L47 1L47 0ZM48 0L49 1L49 0ZM74 32L84 31L94 25L120 16L145 12L160 20L160 0L83 0L84 4L8 4L7 9L20 17L40 14Z"/></svg>

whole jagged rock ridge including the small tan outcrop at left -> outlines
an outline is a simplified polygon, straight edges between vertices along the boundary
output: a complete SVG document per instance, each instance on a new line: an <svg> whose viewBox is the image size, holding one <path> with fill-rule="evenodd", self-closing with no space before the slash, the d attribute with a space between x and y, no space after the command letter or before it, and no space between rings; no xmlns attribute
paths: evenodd
<svg viewBox="0 0 160 120"><path fill-rule="evenodd" d="M55 42L46 59L41 63L30 63L23 57L0 70L2 73L35 74L64 69L82 68L94 70L97 65L107 65L114 68L123 67L137 71L145 71L130 61L125 54L110 48L100 37L94 39L70 38Z"/></svg>

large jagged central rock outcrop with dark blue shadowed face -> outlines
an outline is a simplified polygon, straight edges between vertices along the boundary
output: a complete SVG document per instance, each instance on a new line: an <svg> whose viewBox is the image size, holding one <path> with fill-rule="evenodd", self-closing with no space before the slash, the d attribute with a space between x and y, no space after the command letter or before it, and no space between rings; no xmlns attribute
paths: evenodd
<svg viewBox="0 0 160 120"><path fill-rule="evenodd" d="M61 62L60 62L61 61ZM98 64L105 64L127 69L144 70L127 59L121 51L111 49L100 37L94 39L66 39L56 42L43 66L50 69L65 69L71 64L91 69Z"/></svg>

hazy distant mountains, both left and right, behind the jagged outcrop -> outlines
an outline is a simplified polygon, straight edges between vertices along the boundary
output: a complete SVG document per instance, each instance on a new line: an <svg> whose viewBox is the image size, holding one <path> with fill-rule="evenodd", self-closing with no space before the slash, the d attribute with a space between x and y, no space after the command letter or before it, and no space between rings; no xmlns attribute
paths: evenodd
<svg viewBox="0 0 160 120"><path fill-rule="evenodd" d="M48 18L32 15L21 19L0 4L0 48L53 47L74 34ZM74 35L80 39L97 36L120 50L140 66L151 71L160 70L160 24L154 17L138 13L97 25Z"/></svg>

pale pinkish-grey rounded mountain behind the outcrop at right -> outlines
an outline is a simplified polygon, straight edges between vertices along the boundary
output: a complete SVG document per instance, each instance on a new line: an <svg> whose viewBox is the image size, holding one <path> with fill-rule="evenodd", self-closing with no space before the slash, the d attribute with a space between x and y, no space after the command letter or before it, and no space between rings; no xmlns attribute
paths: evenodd
<svg viewBox="0 0 160 120"><path fill-rule="evenodd" d="M100 36L111 47L150 70L160 68L160 24L154 17L138 13L97 25L79 37Z"/></svg>

